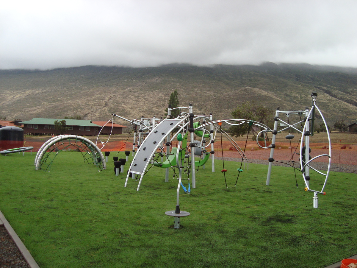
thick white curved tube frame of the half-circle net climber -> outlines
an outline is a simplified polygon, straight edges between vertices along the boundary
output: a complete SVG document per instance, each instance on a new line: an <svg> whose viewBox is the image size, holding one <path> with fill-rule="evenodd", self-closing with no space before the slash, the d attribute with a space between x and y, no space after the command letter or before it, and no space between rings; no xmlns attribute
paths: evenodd
<svg viewBox="0 0 357 268"><path fill-rule="evenodd" d="M50 148L55 145L57 142L61 142L64 140L71 140L74 139L79 142L81 142L82 144L85 144L91 154L91 158L93 159L93 163L95 163L95 165L98 167L99 165L102 165L100 168L101 169L106 169L106 163L105 163L105 158L101 152L101 150L99 149L99 147L97 147L97 145L95 143L93 143L91 140L81 137L81 136L76 136L76 135L60 135L60 136L56 136L53 137L49 140L47 140L47 142L45 142L41 148L39 149L39 151L36 154L36 162L35 162L35 166L36 166L36 170L40 170L42 163L45 163L49 154L52 153L52 150L50 150ZM47 153L47 150L50 150L50 152ZM88 151L87 151L88 152ZM46 154L47 153L47 154ZM89 152L88 152L89 153ZM56 156L56 155L55 155ZM100 158L100 161L97 161L97 158ZM52 160L53 161L53 160ZM51 163L52 163L51 161ZM101 164L100 164L101 163Z"/></svg>

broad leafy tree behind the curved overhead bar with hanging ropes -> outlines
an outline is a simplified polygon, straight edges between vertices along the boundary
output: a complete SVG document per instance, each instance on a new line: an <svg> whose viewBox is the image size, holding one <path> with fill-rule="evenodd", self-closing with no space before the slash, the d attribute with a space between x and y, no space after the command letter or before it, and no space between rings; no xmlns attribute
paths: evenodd
<svg viewBox="0 0 357 268"><path fill-rule="evenodd" d="M254 103L246 102L238 106L237 109L234 110L231 114L235 119L250 119L265 124L270 128L273 127L274 111L262 105L255 105ZM231 126L229 131L231 135L239 137L245 135L248 131L248 128L248 124L242 124L239 126ZM253 134L258 134L258 132L253 128L251 128L251 131Z"/></svg>

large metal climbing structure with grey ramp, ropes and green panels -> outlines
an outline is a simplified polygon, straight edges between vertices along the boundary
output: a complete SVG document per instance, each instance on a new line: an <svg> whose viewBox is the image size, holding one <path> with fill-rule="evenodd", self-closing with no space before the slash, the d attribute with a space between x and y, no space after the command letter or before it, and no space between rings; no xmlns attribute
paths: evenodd
<svg viewBox="0 0 357 268"><path fill-rule="evenodd" d="M288 140L294 138L294 135L290 134L290 128L296 130L298 133L301 134L301 138L299 140L300 143L300 153L296 153L300 155L299 161L300 161L300 172L302 173L303 180L305 183L305 191L313 192L313 208L318 207L318 197L317 194L323 194L325 195L326 193L323 192L327 179L328 179L328 174L330 172L330 165L331 165L331 140L330 140L330 135L328 134L328 144L329 144L329 153L328 154L321 154L317 155L316 157L311 158L309 153L311 152L310 148L310 136L313 136L313 131L314 131L314 122L315 122L315 113L316 111L320 114L320 117L323 120L323 124L325 124L325 127L327 129L327 124L325 121L325 118L323 117L320 109L316 105L316 98L317 98L317 93L313 92L311 94L312 97L312 107L309 110L308 107L305 108L305 110L298 110L298 111L280 111L280 108L277 108L276 113L275 113L275 118L274 118L274 126L273 129L270 129L268 126L256 122L250 119L226 119L226 120L213 120L212 119L212 114L210 116L206 115L194 115L193 114L193 107L192 104L189 104L189 107L178 107L178 108L173 108L173 109L179 109L180 113L177 116L177 118L172 118L171 116L171 106L169 105L168 108L168 114L165 119L159 119L157 120L155 117L153 118L144 118L142 116L141 120L129 120L124 117L121 117L116 114L112 114L113 117L111 120L113 120L114 116L124 119L128 122L130 122L133 125L133 130L135 130L134 133L134 142L133 142L133 150L132 153L134 155L134 159L132 160L132 163L130 165L130 168L128 170L126 180L125 180L125 187L127 186L129 177L133 177L133 175L136 176L136 178L140 178L138 186L137 186L137 191L140 189L140 185L142 183L142 180L144 178L144 175L148 170L154 165L156 167L161 167L161 168L166 168L166 175L165 175L165 181L168 182L169 178L169 168L177 168L178 170L178 176L174 170L175 175L177 176L178 179L178 186L177 186L177 203L176 203L176 209L172 211L166 212L166 215L173 216L175 217L175 228L180 227L180 217L185 217L190 215L188 212L182 212L180 213L180 204L179 204L179 191L180 191L180 186L182 186L183 190L186 193L190 193L190 178L189 176L191 175L191 180L192 180L192 188L196 188L196 176L195 176L195 169L196 167L203 166L209 159L209 156L211 155L211 160L212 160L212 172L215 172L215 167L214 167L214 148L213 144L215 142L215 137L217 134L217 131L219 131L221 135L221 140L222 140L222 135L224 135L230 142L231 144L235 147L237 152L241 155L242 158L242 163L247 162L247 168L248 168L248 159L245 156L245 149L244 151L237 145L237 143L227 134L225 131L222 130L221 125L223 122L225 122L228 125L242 125L242 124L248 124L249 129L251 126L255 125L261 128L262 130L258 133L257 137L263 136L263 140L265 140L264 145L259 144L258 138L256 139L257 144L260 148L263 149L270 149L270 157L268 159L268 172L267 172L267 180L266 180L266 185L269 185L270 183L270 176L271 176L271 171L272 171L272 163L275 162L276 160L273 158L274 154L274 149L275 149L275 140L276 140L276 135L284 131L286 129L289 130L289 134L286 136ZM181 109L188 109L187 112L181 112ZM287 116L287 122L281 120L279 118L279 115L281 113L285 113ZM300 116L300 121L290 124L290 121L288 120L290 115L298 115ZM301 117L304 116L303 119ZM200 120L203 120L202 124L200 123ZM195 122L196 121L196 122ZM109 122L109 121L108 121ZM283 122L284 124L287 125L286 128L278 130L278 122ZM303 127L301 129L298 129L296 126L300 124ZM209 128L206 129L206 128ZM248 133L249 133L248 129ZM190 133L190 143L188 143L188 133ZM272 134L272 141L270 145L266 144L266 135L267 133ZM201 137L201 141L195 140L195 135L198 137ZM207 141L206 139L209 138ZM178 141L178 147L172 147L174 139L177 139ZM166 142L165 142L166 140ZM104 144L105 145L105 144ZM136 151L135 151L135 145ZM208 152L206 151L206 148L211 146L211 151ZM222 145L221 145L222 147ZM292 147L291 147L292 148ZM297 147L296 147L297 148ZM159 151L158 151L159 150ZM166 156L166 159L164 161L164 155ZM195 160L195 156L199 156L200 159L198 161ZM158 159L161 157L161 161L158 161ZM328 167L326 173L323 173L316 168L312 166L313 160L316 160L320 157L327 157L328 158ZM293 158L293 153L292 153L292 158ZM225 182L226 182L226 175L225 172L227 170L224 168L224 158L223 158L223 148L222 148L222 160L223 160L223 170L221 172L224 174L225 177ZM290 159L291 161L292 159ZM294 168L294 172L296 169L294 162L291 161L292 165L290 164L290 161L286 163L287 165L290 165ZM279 161L277 161L279 162ZM241 163L241 167L242 167ZM283 163L283 162L282 162ZM149 164L151 164L151 167L148 169ZM238 170L238 176L237 180L239 178L240 173L243 171L241 168L237 168ZM310 170L313 170L317 172L318 174L321 174L325 176L325 180L323 182L323 186L321 190L315 190L310 188ZM183 171L183 172L182 172ZM183 186L182 184L182 173L187 174L187 179L188 179L188 190ZM296 174L296 173L295 173ZM174 177L175 177L174 175ZM295 175L296 177L296 175ZM236 181L237 184L237 181ZM296 181L297 185L297 181ZM297 185L298 186L298 185ZM227 187L227 183L226 183Z"/></svg>

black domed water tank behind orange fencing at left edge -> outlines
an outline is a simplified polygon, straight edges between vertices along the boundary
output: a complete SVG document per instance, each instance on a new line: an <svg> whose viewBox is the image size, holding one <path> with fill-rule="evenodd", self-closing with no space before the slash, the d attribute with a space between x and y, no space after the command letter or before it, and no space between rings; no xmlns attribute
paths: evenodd
<svg viewBox="0 0 357 268"><path fill-rule="evenodd" d="M0 150L19 148L24 146L24 130L17 126L0 128Z"/></svg>

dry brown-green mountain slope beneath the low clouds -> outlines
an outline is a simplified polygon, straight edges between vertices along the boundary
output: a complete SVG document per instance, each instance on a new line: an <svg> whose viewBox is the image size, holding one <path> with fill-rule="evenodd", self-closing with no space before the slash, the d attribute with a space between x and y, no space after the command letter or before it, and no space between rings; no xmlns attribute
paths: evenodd
<svg viewBox="0 0 357 268"><path fill-rule="evenodd" d="M213 113L217 119L231 118L230 113L245 101L273 110L305 109L311 106L311 92L317 91L317 104L330 123L338 118L357 120L356 69L273 63L0 70L0 116L160 117L175 89L181 106L192 103L196 114Z"/></svg>

